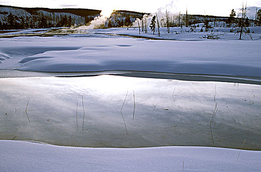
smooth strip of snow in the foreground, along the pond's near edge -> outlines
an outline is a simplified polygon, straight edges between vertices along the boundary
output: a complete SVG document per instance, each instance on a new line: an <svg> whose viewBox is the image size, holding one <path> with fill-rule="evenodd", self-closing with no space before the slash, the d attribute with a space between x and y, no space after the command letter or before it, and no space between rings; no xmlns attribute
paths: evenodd
<svg viewBox="0 0 261 172"><path fill-rule="evenodd" d="M83 148L0 141L0 153L1 172L258 172L261 169L260 151L211 147Z"/></svg>

